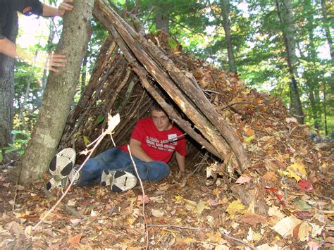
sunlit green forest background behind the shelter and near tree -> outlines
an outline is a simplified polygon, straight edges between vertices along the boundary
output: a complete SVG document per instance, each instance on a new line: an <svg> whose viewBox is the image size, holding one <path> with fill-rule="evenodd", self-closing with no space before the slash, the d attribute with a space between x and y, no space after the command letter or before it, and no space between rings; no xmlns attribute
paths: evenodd
<svg viewBox="0 0 334 250"><path fill-rule="evenodd" d="M45 2L59 4L54 0ZM178 41L188 54L237 73L249 87L277 96L299 123L308 123L311 130L333 137L334 9L330 1L107 2L120 11L134 11L147 32L170 33L173 38L168 43L172 48ZM32 23L20 18L17 41L38 58L54 50L61 36L61 20L38 18ZM73 107L108 35L96 20L92 20L92 26ZM16 62L13 142L1 151L23 154L36 123L47 74L34 63Z"/></svg>

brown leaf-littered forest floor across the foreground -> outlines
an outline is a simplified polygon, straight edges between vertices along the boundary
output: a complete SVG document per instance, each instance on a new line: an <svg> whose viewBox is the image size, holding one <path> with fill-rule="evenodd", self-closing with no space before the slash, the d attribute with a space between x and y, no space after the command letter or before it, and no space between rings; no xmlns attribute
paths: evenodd
<svg viewBox="0 0 334 250"><path fill-rule="evenodd" d="M330 171L333 173L333 169ZM333 182L326 182L332 180L330 176L316 183L312 192L290 187L289 201L285 201L289 205L268 190L260 190L266 193L266 204L270 206L268 216L264 216L252 213L252 206L235 201L230 191L235 180L227 175L206 186L204 170L183 180L175 179L176 172L173 168L171 175L158 184L144 182L144 207L140 185L120 194L101 186L73 187L47 219L34 228L56 204L61 192L46 191L47 174L44 180L21 186L7 182L8 172L4 170L0 178L0 248L333 247ZM244 179L237 185L247 186L247 182Z"/></svg>

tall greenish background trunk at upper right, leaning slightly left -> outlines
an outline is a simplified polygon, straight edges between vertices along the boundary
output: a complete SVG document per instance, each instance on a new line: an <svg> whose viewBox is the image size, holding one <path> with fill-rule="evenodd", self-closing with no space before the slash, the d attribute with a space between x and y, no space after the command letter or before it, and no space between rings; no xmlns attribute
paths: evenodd
<svg viewBox="0 0 334 250"><path fill-rule="evenodd" d="M278 8L278 16L282 25L283 38L285 43L285 50L287 53L287 66L291 77L290 89L293 94L293 104L295 107L295 114L300 124L304 124L304 113L302 110L302 102L299 98L299 90L296 77L297 74L297 56L296 56L296 44L295 44L295 27L293 23L293 8L291 0L276 0L276 6Z"/></svg>

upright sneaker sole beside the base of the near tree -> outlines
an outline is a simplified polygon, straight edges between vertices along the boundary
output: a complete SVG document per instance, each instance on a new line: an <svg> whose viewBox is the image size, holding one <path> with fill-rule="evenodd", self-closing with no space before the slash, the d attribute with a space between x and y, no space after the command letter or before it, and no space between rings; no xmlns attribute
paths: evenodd
<svg viewBox="0 0 334 250"><path fill-rule="evenodd" d="M63 149L52 158L49 165L51 180L47 183L47 189L55 187L66 187L68 184L68 175L70 175L75 163L75 150Z"/></svg>

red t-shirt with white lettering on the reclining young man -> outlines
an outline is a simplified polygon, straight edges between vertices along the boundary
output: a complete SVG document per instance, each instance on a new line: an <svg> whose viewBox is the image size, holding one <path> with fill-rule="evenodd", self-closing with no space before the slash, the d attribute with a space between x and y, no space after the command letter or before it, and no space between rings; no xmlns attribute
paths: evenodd
<svg viewBox="0 0 334 250"><path fill-rule="evenodd" d="M154 161L168 161L173 156L174 151L180 155L186 156L185 137L179 137L183 133L173 125L170 130L159 131L153 123L152 118L143 118L138 120L135 128L132 130L132 139L136 139L142 143L142 149ZM128 151L128 146L120 146L125 152Z"/></svg>

